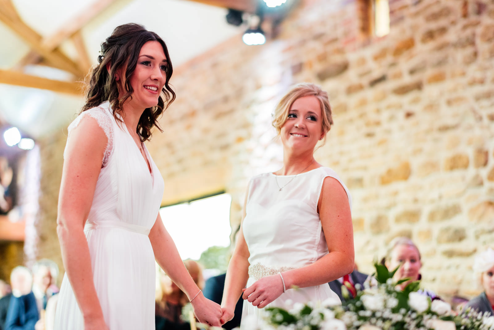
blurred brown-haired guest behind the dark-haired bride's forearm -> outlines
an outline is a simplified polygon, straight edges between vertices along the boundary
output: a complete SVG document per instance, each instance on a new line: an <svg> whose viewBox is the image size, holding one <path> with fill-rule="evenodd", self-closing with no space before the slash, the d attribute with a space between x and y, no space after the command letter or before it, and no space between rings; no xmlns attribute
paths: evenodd
<svg viewBox="0 0 494 330"><path fill-rule="evenodd" d="M184 264L199 289L203 289L204 278L201 265L191 259L185 260ZM188 320L183 320L181 317L182 308L188 302L187 295L163 274L156 296L156 330L189 330Z"/></svg>

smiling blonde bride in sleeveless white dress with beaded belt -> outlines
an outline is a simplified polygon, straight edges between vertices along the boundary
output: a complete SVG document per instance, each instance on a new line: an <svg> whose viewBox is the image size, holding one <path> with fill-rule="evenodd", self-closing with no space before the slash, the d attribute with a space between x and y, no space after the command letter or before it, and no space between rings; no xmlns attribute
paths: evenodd
<svg viewBox="0 0 494 330"><path fill-rule="evenodd" d="M222 324L233 318L242 292L242 320L259 319L266 306L286 308L288 300L339 302L328 282L353 270L351 197L338 175L314 158L332 123L328 93L316 84L293 86L276 106L283 166L248 184Z"/></svg>

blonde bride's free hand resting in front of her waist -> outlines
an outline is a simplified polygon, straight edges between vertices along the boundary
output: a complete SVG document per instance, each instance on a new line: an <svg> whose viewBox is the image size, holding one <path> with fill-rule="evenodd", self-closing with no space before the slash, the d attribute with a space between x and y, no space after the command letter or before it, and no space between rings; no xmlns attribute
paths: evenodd
<svg viewBox="0 0 494 330"><path fill-rule="evenodd" d="M243 291L242 298L257 308L263 308L283 293L283 282L279 274L266 276Z"/></svg>

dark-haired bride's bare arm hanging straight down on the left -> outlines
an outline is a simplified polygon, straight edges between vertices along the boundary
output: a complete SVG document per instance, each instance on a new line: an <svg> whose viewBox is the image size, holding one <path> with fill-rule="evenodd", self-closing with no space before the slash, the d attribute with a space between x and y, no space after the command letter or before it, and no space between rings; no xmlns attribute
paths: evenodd
<svg viewBox="0 0 494 330"><path fill-rule="evenodd" d="M108 138L95 119L85 116L67 141L58 198L57 234L62 259L85 329L107 329L94 288L83 228L91 208Z"/></svg>

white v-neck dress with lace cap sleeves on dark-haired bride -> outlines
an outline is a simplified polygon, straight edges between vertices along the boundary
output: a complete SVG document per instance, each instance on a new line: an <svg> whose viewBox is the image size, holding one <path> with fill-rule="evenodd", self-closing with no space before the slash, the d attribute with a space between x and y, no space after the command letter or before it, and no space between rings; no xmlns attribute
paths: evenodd
<svg viewBox="0 0 494 330"><path fill-rule="evenodd" d="M108 137L94 198L84 227L94 286L110 330L155 329L155 258L149 241L160 209L164 182L143 144L151 166L104 102L82 112ZM56 309L56 330L83 330L82 314L65 274Z"/></svg>

